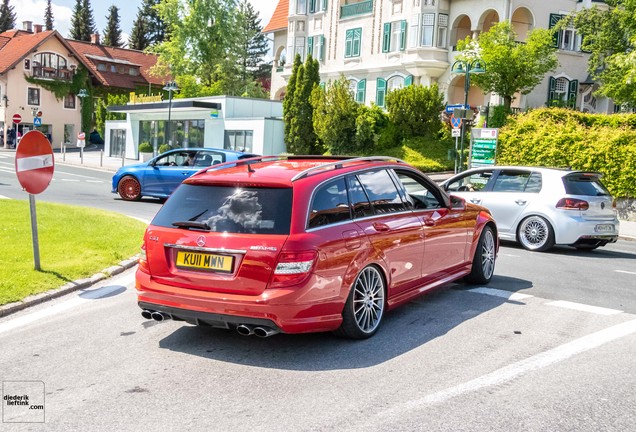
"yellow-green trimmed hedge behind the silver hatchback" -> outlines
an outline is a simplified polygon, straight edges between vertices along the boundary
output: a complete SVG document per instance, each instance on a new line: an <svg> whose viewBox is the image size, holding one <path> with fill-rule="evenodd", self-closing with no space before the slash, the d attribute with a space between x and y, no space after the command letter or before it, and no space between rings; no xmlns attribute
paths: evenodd
<svg viewBox="0 0 636 432"><path fill-rule="evenodd" d="M614 197L636 197L636 114L541 108L508 118L497 163L598 171Z"/></svg>

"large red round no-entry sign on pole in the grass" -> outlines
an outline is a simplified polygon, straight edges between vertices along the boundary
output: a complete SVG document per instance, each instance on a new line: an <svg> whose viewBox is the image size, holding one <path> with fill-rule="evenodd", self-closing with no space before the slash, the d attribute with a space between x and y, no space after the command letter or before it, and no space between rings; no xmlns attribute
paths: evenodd
<svg viewBox="0 0 636 432"><path fill-rule="evenodd" d="M34 195L44 192L53 179L54 165L46 136L37 130L24 134L15 152L15 173L24 190Z"/></svg>

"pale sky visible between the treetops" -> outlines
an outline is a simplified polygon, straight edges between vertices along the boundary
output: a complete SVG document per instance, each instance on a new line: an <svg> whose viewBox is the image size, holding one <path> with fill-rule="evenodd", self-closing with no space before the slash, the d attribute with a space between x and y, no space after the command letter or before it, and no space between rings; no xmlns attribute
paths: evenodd
<svg viewBox="0 0 636 432"><path fill-rule="evenodd" d="M278 0L249 1L259 13L261 25L264 27L274 13ZM62 36L68 37L75 0L53 0L51 4L53 6L53 24L55 29L60 32ZM122 39L128 41L128 35L132 30L132 24L137 17L137 11L142 4L142 0L91 0L95 24L101 35L103 35L104 28L106 27L108 8L113 4L119 8L121 30L125 33ZM17 28L22 28L22 21L33 21L34 24L44 24L46 0L9 0L9 5L14 7Z"/></svg>

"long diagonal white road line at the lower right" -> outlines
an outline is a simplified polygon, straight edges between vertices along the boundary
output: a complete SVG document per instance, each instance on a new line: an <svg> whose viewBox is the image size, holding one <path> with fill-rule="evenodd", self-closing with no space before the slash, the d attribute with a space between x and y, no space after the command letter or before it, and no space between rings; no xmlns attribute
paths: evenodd
<svg viewBox="0 0 636 432"><path fill-rule="evenodd" d="M528 372L536 371L563 360L567 360L577 354L598 348L601 345L621 339L633 333L636 333L636 320L627 321L596 333L583 336L549 351L536 354L501 369L497 369L494 372L475 378L474 380L409 401L399 407L390 408L380 412L379 415L393 416L400 415L404 412L417 411L423 409L426 405L442 403L467 393L472 393L487 387L501 385Z"/></svg>

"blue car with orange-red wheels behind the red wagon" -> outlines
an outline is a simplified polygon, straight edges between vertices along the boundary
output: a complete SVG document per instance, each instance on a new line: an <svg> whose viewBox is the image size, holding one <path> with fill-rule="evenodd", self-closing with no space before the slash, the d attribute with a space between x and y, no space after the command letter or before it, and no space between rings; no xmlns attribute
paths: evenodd
<svg viewBox="0 0 636 432"><path fill-rule="evenodd" d="M214 148L169 150L148 162L121 167L113 175L112 192L126 201L142 196L168 198L183 180L205 167L254 156Z"/></svg>

